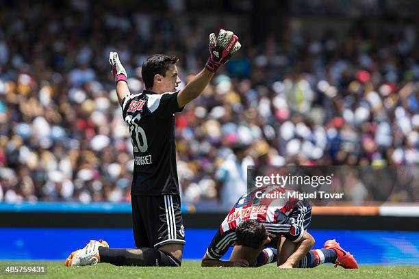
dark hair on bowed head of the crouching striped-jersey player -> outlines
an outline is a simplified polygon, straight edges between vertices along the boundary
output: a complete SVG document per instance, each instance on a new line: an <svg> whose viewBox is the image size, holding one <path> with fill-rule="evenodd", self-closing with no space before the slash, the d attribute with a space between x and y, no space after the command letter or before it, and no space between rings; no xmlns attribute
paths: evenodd
<svg viewBox="0 0 419 279"><path fill-rule="evenodd" d="M249 219L241 222L236 228L236 237L240 245L257 249L268 237L264 224Z"/></svg>

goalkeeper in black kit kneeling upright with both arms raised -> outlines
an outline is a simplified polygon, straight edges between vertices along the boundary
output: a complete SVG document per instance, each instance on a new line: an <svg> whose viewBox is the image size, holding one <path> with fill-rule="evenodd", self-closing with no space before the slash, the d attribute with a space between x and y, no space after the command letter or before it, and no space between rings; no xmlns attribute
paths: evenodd
<svg viewBox="0 0 419 279"><path fill-rule="evenodd" d="M129 126L134 152L131 207L136 248L110 249L106 241L91 240L71 253L68 267L112 263L136 266L180 266L185 245L176 167L175 113L197 98L218 67L240 49L231 31L210 34L210 57L205 68L183 90L177 58L156 54L142 64L146 90L131 95L127 72L116 52L110 53L116 94Z"/></svg>

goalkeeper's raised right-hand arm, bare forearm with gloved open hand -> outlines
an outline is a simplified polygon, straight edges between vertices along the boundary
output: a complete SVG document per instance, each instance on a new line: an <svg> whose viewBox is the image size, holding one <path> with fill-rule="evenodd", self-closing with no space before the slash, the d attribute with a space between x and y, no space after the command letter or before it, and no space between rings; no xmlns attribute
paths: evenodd
<svg viewBox="0 0 419 279"><path fill-rule="evenodd" d="M231 56L238 52L240 47L238 37L231 31L221 29L217 38L214 33L210 34L210 57L207 60L207 64L205 64L205 68L177 94L179 107L183 107L198 97L210 83L218 67L226 64Z"/></svg>

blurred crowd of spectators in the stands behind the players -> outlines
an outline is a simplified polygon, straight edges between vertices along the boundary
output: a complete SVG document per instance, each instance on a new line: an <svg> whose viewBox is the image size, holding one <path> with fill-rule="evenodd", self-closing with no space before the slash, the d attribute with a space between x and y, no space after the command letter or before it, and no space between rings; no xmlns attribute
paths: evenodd
<svg viewBox="0 0 419 279"><path fill-rule="evenodd" d="M247 165L418 165L418 23L355 22L320 38L292 23L259 44L236 31L241 51L177 114L183 202L231 205ZM2 8L0 27L0 201L86 203L130 198L109 52L131 93L153 53L179 57L182 87L204 66L208 34L227 28L86 1Z"/></svg>

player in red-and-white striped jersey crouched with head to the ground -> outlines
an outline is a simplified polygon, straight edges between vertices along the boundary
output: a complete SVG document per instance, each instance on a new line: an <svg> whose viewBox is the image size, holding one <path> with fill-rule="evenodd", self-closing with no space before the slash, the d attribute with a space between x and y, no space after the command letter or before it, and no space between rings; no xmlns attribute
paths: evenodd
<svg viewBox="0 0 419 279"><path fill-rule="evenodd" d="M335 240L326 241L322 249L310 250L314 238L306 231L312 218L307 201L279 203L282 205L261 205L252 194L242 196L212 239L202 266L259 267L276 261L281 268L310 268L322 263L357 268L355 258ZM220 261L231 245L230 261Z"/></svg>

